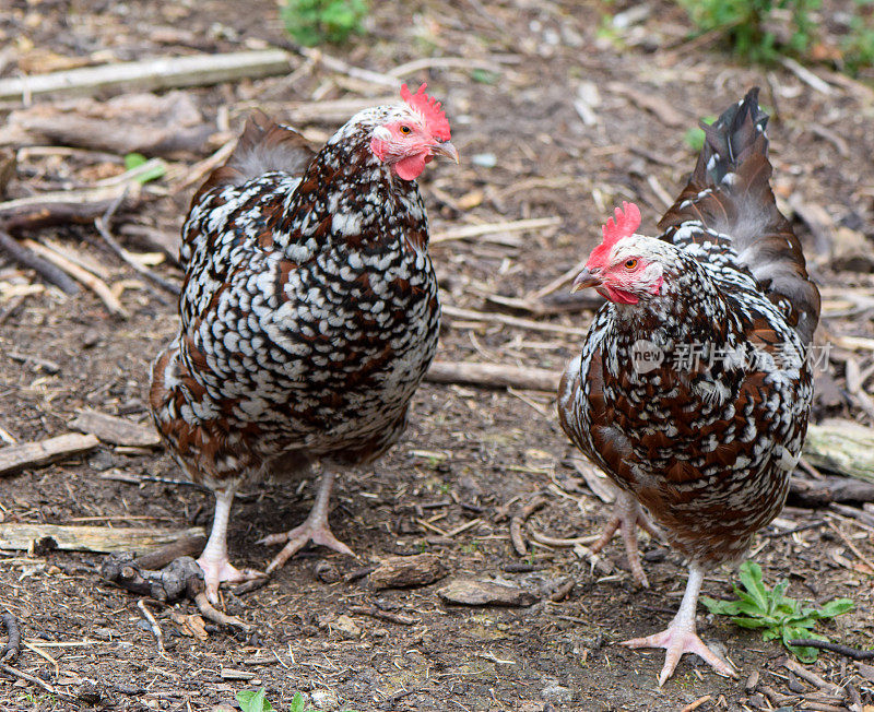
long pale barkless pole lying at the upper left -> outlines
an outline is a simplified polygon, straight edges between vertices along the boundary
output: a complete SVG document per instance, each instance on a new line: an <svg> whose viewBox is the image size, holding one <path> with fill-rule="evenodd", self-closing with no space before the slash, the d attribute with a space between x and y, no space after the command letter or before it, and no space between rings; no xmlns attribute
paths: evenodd
<svg viewBox="0 0 874 712"><path fill-rule="evenodd" d="M96 93L151 92L182 86L204 86L239 79L284 74L291 55L282 49L156 57L137 62L115 62L34 76L0 79L0 100L36 96L92 96ZM397 80L392 85L397 85Z"/></svg>

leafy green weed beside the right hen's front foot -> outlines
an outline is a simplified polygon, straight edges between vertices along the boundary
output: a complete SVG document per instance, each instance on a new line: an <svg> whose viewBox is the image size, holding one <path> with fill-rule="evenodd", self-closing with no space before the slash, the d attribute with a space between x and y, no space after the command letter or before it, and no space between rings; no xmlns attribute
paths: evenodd
<svg viewBox="0 0 874 712"><path fill-rule="evenodd" d="M795 598L784 595L788 581L781 581L772 590L761 582L761 567L755 561L744 561L739 575L743 590L734 586L736 601L716 601L701 596L701 603L710 613L719 616L731 616L742 628L761 628L765 640L781 639L787 650L802 663L813 663L818 650L815 648L796 648L790 640L807 638L828 640L825 636L813 632L817 620L834 618L853 607L849 598L834 598L822 608L803 606Z"/></svg>

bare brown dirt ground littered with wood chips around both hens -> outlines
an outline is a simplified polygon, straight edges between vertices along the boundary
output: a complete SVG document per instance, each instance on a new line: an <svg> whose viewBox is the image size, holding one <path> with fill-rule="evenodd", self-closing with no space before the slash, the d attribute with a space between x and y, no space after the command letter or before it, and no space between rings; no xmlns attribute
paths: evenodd
<svg viewBox="0 0 874 712"><path fill-rule="evenodd" d="M827 84L815 88L790 69L739 64L712 45L686 41L687 19L663 0L371 4L367 38L328 54L377 72L423 57L464 58L435 61L399 79L399 84L401 79L428 82L445 103L462 155L460 167L433 164L421 181L433 234L460 225L558 218L533 232L433 246L445 305L494 312L494 295L536 292L588 253L607 211L623 199L638 202L643 232L654 233L665 199L694 165L686 130L759 85L773 115L776 192L787 212L794 207L793 224L824 287L820 343L874 335L871 302L847 307L850 297L858 305L874 296L869 257L874 92L866 85L818 68ZM285 39L276 5L268 0L247 3L245 12L238 3L210 0L4 0L1 7L0 78L258 49ZM849 7L828 3L824 26ZM617 14L619 20L612 21ZM181 177L227 141L251 108L323 140L342 120L314 107L341 98L378 103L393 91L295 56L287 75L186 94L211 127L211 138L165 155L167 176L152 183L139 207L116 215L113 229L133 251L154 251L155 241L175 244L196 187L180 187ZM0 126L22 106L0 105ZM32 147L54 145L38 139L15 145L22 151L8 199L86 186L122 170L121 156L106 151ZM152 242L144 245L143 236ZM147 424L149 364L177 329L173 298L109 253L93 226L49 227L29 237L51 239L102 265L107 283L125 287L121 301L130 317L110 316L90 290L64 297L43 288L39 277L0 254L0 353L5 355L0 427L19 442L40 440L69 432L83 407ZM180 278L169 260L155 270L167 280ZM534 318L566 331L445 318L438 358L558 370L578 353L582 332L574 330L587 327L591 311ZM829 369L818 376L816 419L871 423L858 379L864 395L872 352L870 345L857 348L831 349ZM855 376L855 397L848 371ZM104 556L0 553L0 606L48 655L25 649L15 666L75 699L2 678L0 709L211 710L234 707L237 690L260 686L281 710L295 691L311 695L320 709L359 712L661 711L701 698L707 698L697 707L701 711L848 709L791 674L777 643L765 643L701 607L702 637L723 646L741 672L739 680L718 677L686 656L660 689L662 653L615 644L670 621L685 568L676 555L645 539L651 588L639 590L618 541L606 550L610 573L592 571L571 548L531 543L535 532L554 537L595 533L609 512L576 470L576 453L554 407L548 393L424 384L401 442L375 467L345 474L338 488L333 529L358 559L308 548L265 586L245 595L224 591L224 609L253 626L251 633L208 624L201 639L187 634L190 628L180 622L180 616L198 614L193 603L154 606L165 639L161 654L138 597L98 577ZM211 495L155 482L162 477L180 477L164 451L102 446L85 456L3 478L0 521L209 526ZM302 521L314 484L247 487L235 503L232 559L263 567L274 551L257 539ZM510 544L507 514L538 496L546 503L525 524L531 553L522 558ZM870 648L874 572L863 557L874 557L871 532L846 512L794 502L760 533L753 550L769 585L788 579L790 595L817 603L851 597L853 612L822 630L832 640ZM345 578L385 557L423 551L437 554L448 572L432 585L376 590L367 577ZM532 593L535 603L448 605L436 592L458 577L511 582ZM707 578L705 593L729 597L733 580L733 571L719 570ZM558 590L564 595L552 601ZM874 701L874 668L827 653L810 667ZM758 690L747 689L753 674L759 676Z"/></svg>

